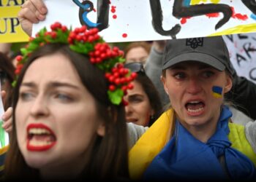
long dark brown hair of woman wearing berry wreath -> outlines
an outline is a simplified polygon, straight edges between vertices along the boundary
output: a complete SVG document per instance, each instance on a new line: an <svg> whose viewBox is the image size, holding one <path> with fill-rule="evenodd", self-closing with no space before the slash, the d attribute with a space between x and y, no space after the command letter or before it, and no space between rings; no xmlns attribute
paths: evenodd
<svg viewBox="0 0 256 182"><path fill-rule="evenodd" d="M105 122L105 135L95 134L89 145L89 155L85 159L86 167L79 178L108 179L128 177L128 148L127 127L124 106L114 106L108 100L108 82L105 72L92 65L86 55L81 55L69 49L67 44L46 44L35 51L24 65L14 91L13 102L13 131L10 149L5 161L5 174L7 179L39 178L39 172L26 165L18 148L15 109L18 103L20 84L31 63L45 55L61 53L69 58L72 66L78 71L84 87L96 100L97 113ZM45 70L46 71L46 70ZM82 137L82 136L81 136Z"/></svg>

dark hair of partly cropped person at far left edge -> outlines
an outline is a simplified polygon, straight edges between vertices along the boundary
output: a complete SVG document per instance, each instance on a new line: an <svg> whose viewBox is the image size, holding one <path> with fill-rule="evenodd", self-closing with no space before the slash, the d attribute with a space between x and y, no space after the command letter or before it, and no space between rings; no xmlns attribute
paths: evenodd
<svg viewBox="0 0 256 182"><path fill-rule="evenodd" d="M7 92L7 98L4 103L4 109L7 109L12 105L12 82L15 78L15 67L12 65L11 60L2 52L0 52L0 69L1 85L4 84L2 82L3 79L6 79L6 81L9 82L8 90L5 90Z"/></svg>

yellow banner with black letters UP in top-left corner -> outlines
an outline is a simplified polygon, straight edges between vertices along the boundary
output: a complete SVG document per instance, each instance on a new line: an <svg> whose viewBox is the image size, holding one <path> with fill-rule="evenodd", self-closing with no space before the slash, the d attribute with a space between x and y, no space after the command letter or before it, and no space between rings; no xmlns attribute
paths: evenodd
<svg viewBox="0 0 256 182"><path fill-rule="evenodd" d="M28 41L18 21L20 6L25 0L0 0L0 42Z"/></svg>

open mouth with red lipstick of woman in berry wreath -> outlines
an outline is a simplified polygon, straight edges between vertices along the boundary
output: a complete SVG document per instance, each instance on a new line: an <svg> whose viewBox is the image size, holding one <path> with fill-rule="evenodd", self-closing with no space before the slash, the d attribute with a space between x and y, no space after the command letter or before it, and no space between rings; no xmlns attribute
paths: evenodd
<svg viewBox="0 0 256 182"><path fill-rule="evenodd" d="M56 144L56 135L45 124L29 124L27 127L27 149L46 151Z"/></svg>

